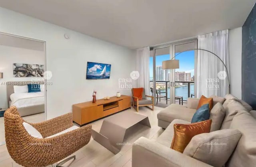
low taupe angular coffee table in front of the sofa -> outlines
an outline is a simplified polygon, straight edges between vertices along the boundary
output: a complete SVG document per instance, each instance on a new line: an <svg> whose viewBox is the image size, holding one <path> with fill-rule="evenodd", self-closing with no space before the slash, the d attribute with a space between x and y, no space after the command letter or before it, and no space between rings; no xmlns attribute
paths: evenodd
<svg viewBox="0 0 256 167"><path fill-rule="evenodd" d="M123 111L104 119L100 133L92 129L92 137L109 151L117 154L122 148L120 143L124 142L127 129L137 123L151 127L147 116L132 111Z"/></svg>

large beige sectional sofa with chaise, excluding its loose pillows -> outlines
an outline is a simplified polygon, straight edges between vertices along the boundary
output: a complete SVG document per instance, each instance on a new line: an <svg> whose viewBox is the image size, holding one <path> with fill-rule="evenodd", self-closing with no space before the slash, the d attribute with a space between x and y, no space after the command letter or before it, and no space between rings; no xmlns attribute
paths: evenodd
<svg viewBox="0 0 256 167"><path fill-rule="evenodd" d="M190 107L172 104L158 113L158 125L165 128L164 132L152 141L140 137L132 146L132 167L210 167L211 165L194 159L188 155L170 149L174 136L175 123L190 123L198 99L190 99ZM191 101L190 101L191 102ZM215 103L214 103L215 104ZM225 118L221 129L238 129L242 137L236 149L226 162L226 167L256 166L256 111L250 105L241 103L236 97L226 95L223 103ZM251 114L252 113L252 114ZM220 150L221 151L221 150Z"/></svg>

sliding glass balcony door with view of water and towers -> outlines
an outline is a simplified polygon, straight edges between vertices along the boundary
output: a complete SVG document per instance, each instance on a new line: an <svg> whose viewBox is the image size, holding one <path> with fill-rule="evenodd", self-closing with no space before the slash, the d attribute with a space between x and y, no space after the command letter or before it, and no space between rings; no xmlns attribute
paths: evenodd
<svg viewBox="0 0 256 167"><path fill-rule="evenodd" d="M186 102L188 97L195 94L194 80L196 78L197 54L194 50L184 52L195 48L197 48L197 40L151 48L150 87L155 105L166 107L176 101L178 103L180 101L182 104L182 102ZM175 57L175 55L178 56ZM180 60L180 69L163 70L162 62L171 59Z"/></svg>

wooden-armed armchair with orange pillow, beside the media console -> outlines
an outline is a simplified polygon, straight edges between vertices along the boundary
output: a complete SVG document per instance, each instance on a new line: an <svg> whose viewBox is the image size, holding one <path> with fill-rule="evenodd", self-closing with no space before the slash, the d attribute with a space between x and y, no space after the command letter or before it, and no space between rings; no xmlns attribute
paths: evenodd
<svg viewBox="0 0 256 167"><path fill-rule="evenodd" d="M136 93L136 92L139 89L142 90L142 91L138 95L138 93ZM146 99L146 97L150 97L151 99L148 100L148 99ZM132 88L132 106L134 107L134 105L136 105L136 111L137 112L139 111L139 107L141 107L141 106L148 107L149 105L152 106L152 108L150 108L150 107L149 108L154 111L154 97L150 96L150 95L146 95L145 94L145 89L142 88L142 87L141 88Z"/></svg>

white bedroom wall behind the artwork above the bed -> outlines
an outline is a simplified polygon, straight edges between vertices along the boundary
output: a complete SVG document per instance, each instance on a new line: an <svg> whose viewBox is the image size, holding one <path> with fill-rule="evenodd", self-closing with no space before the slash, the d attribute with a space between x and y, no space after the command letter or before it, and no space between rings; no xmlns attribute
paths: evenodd
<svg viewBox="0 0 256 167"><path fill-rule="evenodd" d="M0 45L0 60L0 72L4 74L4 78L0 79L0 108L3 108L8 107L6 85L4 83L8 81L31 81L30 77L14 78L12 64L44 65L44 52Z"/></svg>

